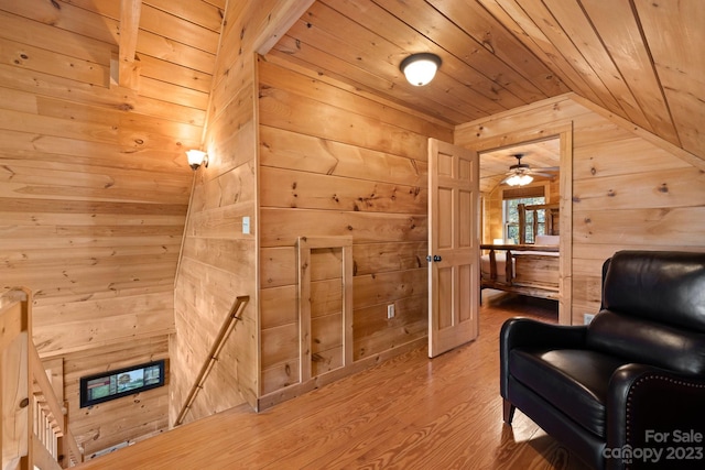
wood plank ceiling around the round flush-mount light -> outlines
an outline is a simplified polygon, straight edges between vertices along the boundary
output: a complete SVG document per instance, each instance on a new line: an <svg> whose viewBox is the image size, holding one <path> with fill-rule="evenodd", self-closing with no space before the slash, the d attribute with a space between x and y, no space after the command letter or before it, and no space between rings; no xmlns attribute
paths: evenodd
<svg viewBox="0 0 705 470"><path fill-rule="evenodd" d="M698 0L318 0L270 54L451 124L574 91L703 159L703 24ZM422 88L416 52L443 61Z"/></svg>

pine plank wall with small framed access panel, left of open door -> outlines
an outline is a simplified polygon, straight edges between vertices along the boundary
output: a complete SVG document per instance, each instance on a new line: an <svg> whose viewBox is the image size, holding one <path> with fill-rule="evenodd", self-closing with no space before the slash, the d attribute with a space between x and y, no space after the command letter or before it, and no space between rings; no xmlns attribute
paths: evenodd
<svg viewBox="0 0 705 470"><path fill-rule="evenodd" d="M311 74L259 63L262 395L299 381L299 236L352 236L356 361L427 334L427 138L452 129Z"/></svg>

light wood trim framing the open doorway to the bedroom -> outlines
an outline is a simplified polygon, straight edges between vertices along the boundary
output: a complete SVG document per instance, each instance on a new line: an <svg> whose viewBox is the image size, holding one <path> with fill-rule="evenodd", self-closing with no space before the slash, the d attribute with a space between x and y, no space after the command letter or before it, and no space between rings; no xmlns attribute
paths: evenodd
<svg viewBox="0 0 705 470"><path fill-rule="evenodd" d="M487 139L480 139L467 147L481 153L514 146L522 143L540 142L557 138L561 149L560 176L560 225L561 258L558 262L558 323L573 321L573 121L563 121L538 129L523 129ZM563 237L563 234L567 237Z"/></svg>

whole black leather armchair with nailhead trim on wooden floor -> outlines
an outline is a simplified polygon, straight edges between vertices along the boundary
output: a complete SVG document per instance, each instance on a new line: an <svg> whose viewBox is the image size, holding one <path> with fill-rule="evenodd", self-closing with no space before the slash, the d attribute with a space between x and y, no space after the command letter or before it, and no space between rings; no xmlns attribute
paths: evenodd
<svg viewBox="0 0 705 470"><path fill-rule="evenodd" d="M615 253L588 326L505 323L500 374L505 423L594 468L705 469L705 253Z"/></svg>

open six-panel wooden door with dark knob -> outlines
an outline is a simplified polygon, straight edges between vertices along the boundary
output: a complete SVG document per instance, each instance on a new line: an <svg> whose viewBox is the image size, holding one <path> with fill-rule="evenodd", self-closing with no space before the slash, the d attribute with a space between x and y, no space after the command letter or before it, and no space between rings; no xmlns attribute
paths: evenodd
<svg viewBox="0 0 705 470"><path fill-rule="evenodd" d="M429 357L479 330L479 157L429 139Z"/></svg>

